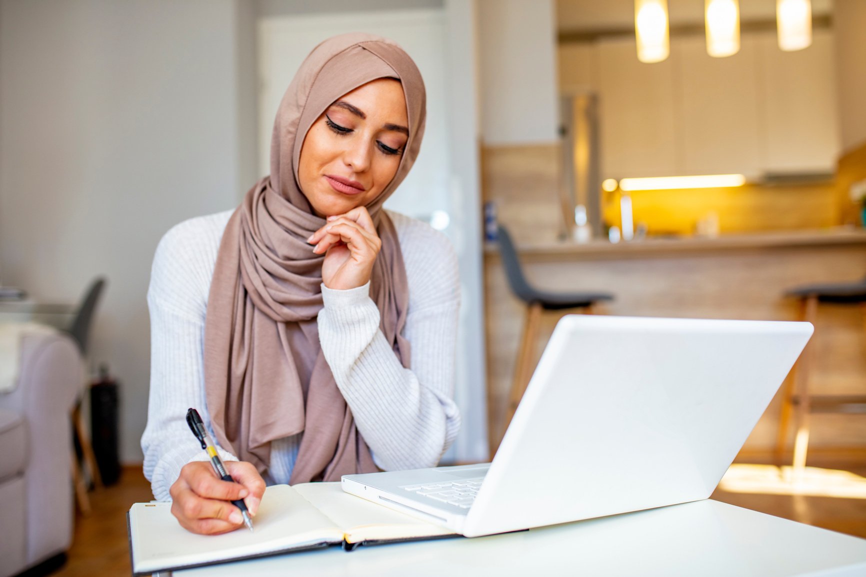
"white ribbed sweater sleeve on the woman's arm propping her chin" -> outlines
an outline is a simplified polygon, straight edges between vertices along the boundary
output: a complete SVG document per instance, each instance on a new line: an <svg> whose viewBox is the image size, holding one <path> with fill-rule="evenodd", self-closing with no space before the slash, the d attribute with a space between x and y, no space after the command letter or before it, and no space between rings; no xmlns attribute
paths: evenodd
<svg viewBox="0 0 866 577"><path fill-rule="evenodd" d="M369 283L351 291L322 285L322 352L373 459L386 471L435 466L456 438L454 396L457 313L456 254L424 224L392 215L410 282L404 369L379 329ZM401 234L402 233L402 234Z"/></svg>

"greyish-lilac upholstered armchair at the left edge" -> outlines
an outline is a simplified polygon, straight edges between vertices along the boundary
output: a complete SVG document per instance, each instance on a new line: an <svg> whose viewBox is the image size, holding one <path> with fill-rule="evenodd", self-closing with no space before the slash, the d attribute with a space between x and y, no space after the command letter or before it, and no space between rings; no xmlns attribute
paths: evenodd
<svg viewBox="0 0 866 577"><path fill-rule="evenodd" d="M16 388L0 394L0 577L72 541L69 414L84 366L67 334L24 335Z"/></svg>

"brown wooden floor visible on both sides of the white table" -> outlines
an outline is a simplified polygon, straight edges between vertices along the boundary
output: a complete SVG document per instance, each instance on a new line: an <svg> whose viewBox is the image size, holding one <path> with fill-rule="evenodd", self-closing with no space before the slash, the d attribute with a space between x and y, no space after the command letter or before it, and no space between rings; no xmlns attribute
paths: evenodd
<svg viewBox="0 0 866 577"><path fill-rule="evenodd" d="M843 469L866 477L866 462L811 458L809 465ZM866 538L866 499L746 495L716 490L713 498L746 509L785 517L824 529ZM126 540L126 510L152 499L150 484L139 468L125 469L120 483L90 493L93 512L77 516L68 561L54 575L130 575Z"/></svg>

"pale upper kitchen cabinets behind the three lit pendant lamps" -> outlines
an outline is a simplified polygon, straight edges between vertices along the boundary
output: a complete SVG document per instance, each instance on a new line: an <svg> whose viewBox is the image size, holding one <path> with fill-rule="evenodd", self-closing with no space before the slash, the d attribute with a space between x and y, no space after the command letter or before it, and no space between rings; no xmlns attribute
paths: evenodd
<svg viewBox="0 0 866 577"><path fill-rule="evenodd" d="M637 60L631 36L559 51L562 93L598 93L603 178L831 173L838 155L832 32L783 52L775 31L741 35L740 52L707 54L675 36L666 61Z"/></svg>

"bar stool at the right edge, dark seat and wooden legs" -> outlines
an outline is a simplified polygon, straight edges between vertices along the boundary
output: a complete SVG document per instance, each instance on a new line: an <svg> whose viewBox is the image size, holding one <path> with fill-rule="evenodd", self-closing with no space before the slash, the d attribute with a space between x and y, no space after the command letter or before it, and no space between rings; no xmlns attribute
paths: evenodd
<svg viewBox="0 0 866 577"><path fill-rule="evenodd" d="M818 303L861 305L866 315L866 279L852 283L805 285L792 288L785 296L798 298L800 320L815 324ZM817 331L817 329L816 329ZM776 453L780 457L785 451L788 426L793 407L797 407L797 435L794 439L793 470L802 472L806 464L809 446L809 415L811 413L866 413L866 395L811 395L809 393L809 370L811 369L811 343L794 364L791 375L785 381L782 409L779 414L779 435ZM796 394L795 394L796 391Z"/></svg>

